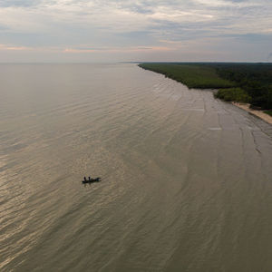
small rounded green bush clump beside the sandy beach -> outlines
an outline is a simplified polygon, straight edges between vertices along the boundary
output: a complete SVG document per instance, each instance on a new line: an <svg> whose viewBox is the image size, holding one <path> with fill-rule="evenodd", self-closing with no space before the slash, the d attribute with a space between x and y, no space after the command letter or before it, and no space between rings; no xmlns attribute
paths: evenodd
<svg viewBox="0 0 272 272"><path fill-rule="evenodd" d="M241 88L220 89L214 96L228 102L251 102L251 97Z"/></svg>

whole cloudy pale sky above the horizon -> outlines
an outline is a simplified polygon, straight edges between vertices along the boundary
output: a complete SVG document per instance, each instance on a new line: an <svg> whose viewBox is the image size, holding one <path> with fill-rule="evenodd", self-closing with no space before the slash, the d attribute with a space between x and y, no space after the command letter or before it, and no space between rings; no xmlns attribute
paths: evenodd
<svg viewBox="0 0 272 272"><path fill-rule="evenodd" d="M0 0L0 63L272 62L272 0Z"/></svg>

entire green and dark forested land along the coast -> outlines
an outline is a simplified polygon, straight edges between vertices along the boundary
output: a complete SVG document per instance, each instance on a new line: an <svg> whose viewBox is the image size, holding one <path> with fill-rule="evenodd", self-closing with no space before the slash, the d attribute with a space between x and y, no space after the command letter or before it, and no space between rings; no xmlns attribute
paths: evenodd
<svg viewBox="0 0 272 272"><path fill-rule="evenodd" d="M272 109L272 63L141 63L139 66L163 73L189 88L219 89L215 96L225 101L250 102L257 109Z"/></svg>

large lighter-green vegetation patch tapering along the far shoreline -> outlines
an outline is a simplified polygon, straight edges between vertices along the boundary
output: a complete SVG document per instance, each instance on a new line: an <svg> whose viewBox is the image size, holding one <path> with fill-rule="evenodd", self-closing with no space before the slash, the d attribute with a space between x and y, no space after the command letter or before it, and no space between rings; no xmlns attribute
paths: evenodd
<svg viewBox="0 0 272 272"><path fill-rule="evenodd" d="M141 68L162 73L177 82L184 83L189 88L219 89L233 87L234 84L222 79L215 69L209 66L170 64L170 63L142 63Z"/></svg>

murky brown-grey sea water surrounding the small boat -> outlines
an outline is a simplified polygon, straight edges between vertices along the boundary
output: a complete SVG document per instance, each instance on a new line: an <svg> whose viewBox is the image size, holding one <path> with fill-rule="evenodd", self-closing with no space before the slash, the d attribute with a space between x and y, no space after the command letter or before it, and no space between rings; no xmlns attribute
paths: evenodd
<svg viewBox="0 0 272 272"><path fill-rule="evenodd" d="M131 63L0 79L0 271L271 271L271 125Z"/></svg>

